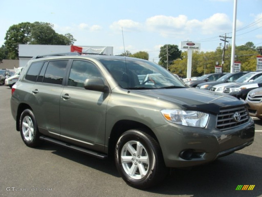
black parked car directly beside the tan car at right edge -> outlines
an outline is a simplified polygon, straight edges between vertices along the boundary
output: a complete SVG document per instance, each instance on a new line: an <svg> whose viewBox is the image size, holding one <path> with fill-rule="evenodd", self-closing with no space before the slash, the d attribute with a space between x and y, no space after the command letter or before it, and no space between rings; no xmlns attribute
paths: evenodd
<svg viewBox="0 0 262 197"><path fill-rule="evenodd" d="M238 99L245 100L248 92L258 87L262 87L262 76L253 80L253 82L245 82L245 83L237 83L233 85L228 85L224 88L223 93L237 97Z"/></svg>

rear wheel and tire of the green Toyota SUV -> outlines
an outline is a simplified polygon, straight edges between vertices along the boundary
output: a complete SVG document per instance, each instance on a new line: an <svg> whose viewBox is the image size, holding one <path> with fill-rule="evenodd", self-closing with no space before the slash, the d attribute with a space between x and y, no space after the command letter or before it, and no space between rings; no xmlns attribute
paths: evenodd
<svg viewBox="0 0 262 197"><path fill-rule="evenodd" d="M20 134L26 146L37 147L40 144L36 119L30 109L24 110L20 116Z"/></svg>

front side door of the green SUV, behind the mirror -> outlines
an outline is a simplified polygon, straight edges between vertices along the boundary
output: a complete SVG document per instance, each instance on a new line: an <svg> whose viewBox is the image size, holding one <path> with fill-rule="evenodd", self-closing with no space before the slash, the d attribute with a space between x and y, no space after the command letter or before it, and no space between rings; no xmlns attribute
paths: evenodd
<svg viewBox="0 0 262 197"><path fill-rule="evenodd" d="M60 98L61 139L80 146L104 150L106 107L109 93L84 89L84 81L105 78L87 60L73 60L67 86Z"/></svg>

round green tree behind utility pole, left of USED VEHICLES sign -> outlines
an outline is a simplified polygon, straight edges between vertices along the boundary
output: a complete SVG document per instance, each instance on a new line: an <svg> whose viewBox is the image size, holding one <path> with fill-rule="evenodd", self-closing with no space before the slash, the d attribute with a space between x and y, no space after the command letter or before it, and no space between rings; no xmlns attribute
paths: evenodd
<svg viewBox="0 0 262 197"><path fill-rule="evenodd" d="M158 64L166 68L167 54L168 54L168 65L170 65L174 60L181 58L181 53L182 51L178 49L177 45L165 44L164 46L160 47L160 53L159 53L160 60Z"/></svg>

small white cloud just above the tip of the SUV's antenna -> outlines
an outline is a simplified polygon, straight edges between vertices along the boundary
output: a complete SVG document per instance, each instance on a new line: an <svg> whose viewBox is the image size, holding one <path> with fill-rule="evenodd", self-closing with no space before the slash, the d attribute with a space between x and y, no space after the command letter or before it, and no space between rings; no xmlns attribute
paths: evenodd
<svg viewBox="0 0 262 197"><path fill-rule="evenodd" d="M124 31L140 31L143 25L129 19L118 20L110 25L110 28L115 31L122 31L122 27Z"/></svg>

